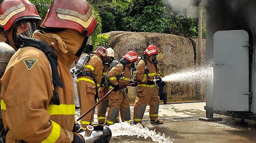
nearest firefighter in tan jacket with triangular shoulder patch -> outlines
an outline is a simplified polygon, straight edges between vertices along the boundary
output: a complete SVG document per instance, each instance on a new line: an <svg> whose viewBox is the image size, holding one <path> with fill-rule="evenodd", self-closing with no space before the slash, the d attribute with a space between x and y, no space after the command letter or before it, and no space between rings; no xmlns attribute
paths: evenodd
<svg viewBox="0 0 256 143"><path fill-rule="evenodd" d="M6 17L31 6L9 7ZM40 26L43 31L35 31L33 38L20 35L23 46L1 79L1 140L85 143L75 129L69 67L84 51L97 20L85 0L54 0Z"/></svg>

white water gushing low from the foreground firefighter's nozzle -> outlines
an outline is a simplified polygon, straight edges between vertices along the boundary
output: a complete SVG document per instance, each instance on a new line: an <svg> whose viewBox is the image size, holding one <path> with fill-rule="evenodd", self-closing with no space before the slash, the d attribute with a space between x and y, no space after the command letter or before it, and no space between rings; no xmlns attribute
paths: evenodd
<svg viewBox="0 0 256 143"><path fill-rule="evenodd" d="M148 138L150 137L152 141L158 143L172 143L169 137L165 137L165 134L156 133L154 130L149 130L148 128L143 128L141 124L130 125L127 122L116 123L109 126L112 132L112 137L117 136L137 136Z"/></svg>

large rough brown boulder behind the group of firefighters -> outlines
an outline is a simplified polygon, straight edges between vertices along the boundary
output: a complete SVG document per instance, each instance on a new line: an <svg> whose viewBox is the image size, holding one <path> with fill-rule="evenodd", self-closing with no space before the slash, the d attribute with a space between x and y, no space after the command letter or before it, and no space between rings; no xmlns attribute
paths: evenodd
<svg viewBox="0 0 256 143"><path fill-rule="evenodd" d="M134 50L141 56L149 44L156 45L160 54L163 55L163 63L159 65L162 77L195 67L195 46L193 47L192 43L194 43L196 39L193 40L165 33L114 31L106 34L111 37L108 47L114 49L118 60L129 50ZM169 82L165 90L169 97L177 96L179 98L185 98L194 96L195 85L191 82ZM131 94L129 95L135 97L134 89L130 91Z"/></svg>

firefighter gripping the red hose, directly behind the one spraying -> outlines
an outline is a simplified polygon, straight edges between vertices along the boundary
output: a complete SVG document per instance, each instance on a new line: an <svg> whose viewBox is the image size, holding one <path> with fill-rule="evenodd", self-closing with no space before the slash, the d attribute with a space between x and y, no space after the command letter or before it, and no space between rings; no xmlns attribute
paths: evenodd
<svg viewBox="0 0 256 143"><path fill-rule="evenodd" d="M123 85L129 83L132 78L131 69L134 69L134 63L138 60L138 55L134 51L127 52L120 63L114 66L108 72L108 78L111 82L109 89L114 91L109 95L109 112L106 119L107 125L112 125L116 122L119 110L122 121L130 122L131 113L128 100L127 88L121 88Z"/></svg>

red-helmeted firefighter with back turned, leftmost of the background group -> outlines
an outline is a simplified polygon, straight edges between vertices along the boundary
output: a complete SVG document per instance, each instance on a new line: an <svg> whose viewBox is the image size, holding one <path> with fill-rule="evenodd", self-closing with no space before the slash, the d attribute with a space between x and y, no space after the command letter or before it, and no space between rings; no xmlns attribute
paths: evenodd
<svg viewBox="0 0 256 143"><path fill-rule="evenodd" d="M100 46L91 55L84 69L77 73L77 91L80 103L80 114L89 110L96 102L98 87L100 86L103 72L102 61L107 57L107 50ZM81 126L93 125L94 110L81 119Z"/></svg>

